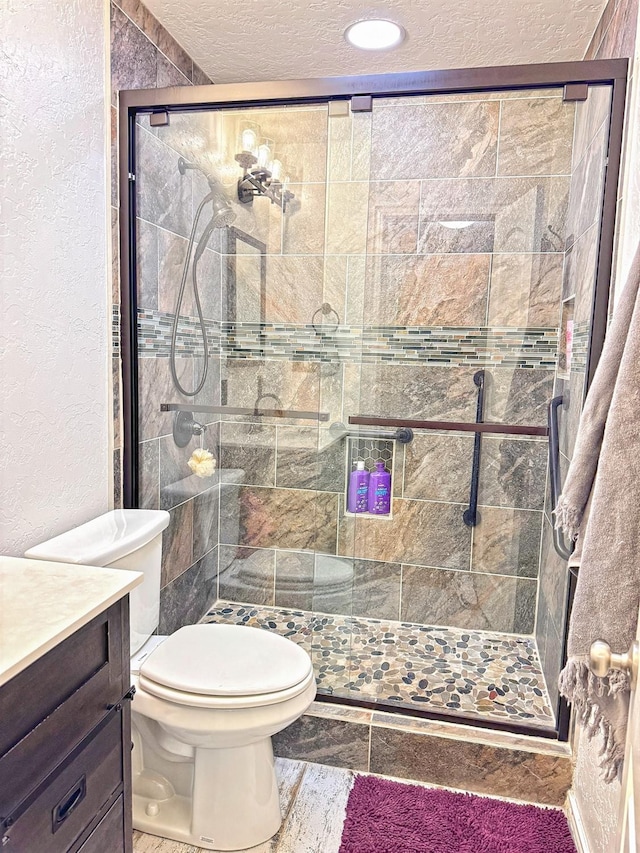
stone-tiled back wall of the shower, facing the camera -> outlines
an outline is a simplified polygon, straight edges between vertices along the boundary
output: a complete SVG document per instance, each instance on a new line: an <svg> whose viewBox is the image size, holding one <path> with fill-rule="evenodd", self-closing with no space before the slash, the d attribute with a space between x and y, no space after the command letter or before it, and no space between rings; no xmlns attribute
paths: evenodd
<svg viewBox="0 0 640 853"><path fill-rule="evenodd" d="M246 324L230 330L228 403L251 406L262 376L283 407L327 412L329 423L357 413L473 421L473 375L484 367L487 420L543 425L573 104L544 91L376 101L373 114L328 121L307 111L319 142L321 119L326 172L320 150L281 253L267 258L274 327L262 329L262 351ZM460 220L471 224L447 227ZM323 301L336 330L311 326ZM472 436L424 433L398 446L392 519L354 520L344 515L344 442L328 435L324 423L222 424L221 465L244 472L237 501L222 505L222 597L533 630L546 441L483 439L472 532L462 522Z"/></svg>

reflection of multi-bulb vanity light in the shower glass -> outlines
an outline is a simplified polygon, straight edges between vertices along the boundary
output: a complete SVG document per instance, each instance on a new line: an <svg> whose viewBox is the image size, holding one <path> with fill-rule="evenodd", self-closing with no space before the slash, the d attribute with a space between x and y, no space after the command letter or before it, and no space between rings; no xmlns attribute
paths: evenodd
<svg viewBox="0 0 640 853"><path fill-rule="evenodd" d="M242 151L235 155L243 175L238 179L238 200L252 204L256 196L265 196L277 204L284 213L295 195L287 189L288 178L282 177L282 163L272 159L273 142L263 139L258 144L258 134L246 127L241 134Z"/></svg>

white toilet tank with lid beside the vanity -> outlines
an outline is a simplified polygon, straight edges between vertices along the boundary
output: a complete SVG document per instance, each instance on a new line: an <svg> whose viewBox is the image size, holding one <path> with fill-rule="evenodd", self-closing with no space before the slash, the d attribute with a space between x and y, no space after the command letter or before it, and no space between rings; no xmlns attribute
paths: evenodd
<svg viewBox="0 0 640 853"><path fill-rule="evenodd" d="M142 572L143 582L129 594L134 654L158 627L162 531L168 524L164 510L116 509L30 548L25 557Z"/></svg>

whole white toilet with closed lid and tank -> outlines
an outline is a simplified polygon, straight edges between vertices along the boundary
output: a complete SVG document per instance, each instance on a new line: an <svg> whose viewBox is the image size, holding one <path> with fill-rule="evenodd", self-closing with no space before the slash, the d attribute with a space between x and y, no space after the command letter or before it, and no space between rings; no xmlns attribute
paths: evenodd
<svg viewBox="0 0 640 853"><path fill-rule="evenodd" d="M300 646L260 628L153 635L168 523L161 510L114 510L25 556L144 573L130 600L134 828L242 850L280 827L271 736L313 701L313 667Z"/></svg>

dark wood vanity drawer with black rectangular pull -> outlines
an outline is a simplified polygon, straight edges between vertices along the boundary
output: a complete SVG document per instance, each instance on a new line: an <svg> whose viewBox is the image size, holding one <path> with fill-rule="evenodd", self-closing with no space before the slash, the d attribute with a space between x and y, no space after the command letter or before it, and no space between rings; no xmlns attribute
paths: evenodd
<svg viewBox="0 0 640 853"><path fill-rule="evenodd" d="M62 853L82 834L101 808L121 790L122 709L90 738L62 770L45 780L26 809L5 831L12 853Z"/></svg>

